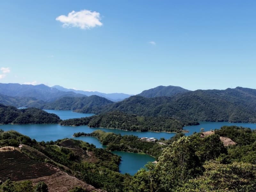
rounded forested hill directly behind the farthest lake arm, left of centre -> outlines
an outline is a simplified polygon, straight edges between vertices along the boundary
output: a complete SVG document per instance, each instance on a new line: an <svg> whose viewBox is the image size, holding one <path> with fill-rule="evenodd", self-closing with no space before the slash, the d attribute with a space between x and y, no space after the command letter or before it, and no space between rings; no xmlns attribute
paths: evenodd
<svg viewBox="0 0 256 192"><path fill-rule="evenodd" d="M92 95L90 97L62 97L50 103L38 105L38 108L55 109L55 110L80 110L83 113L91 111L92 107L104 106L113 103L113 101L106 98ZM28 105L29 107L36 107L35 103ZM84 110L85 108L85 110Z"/></svg>

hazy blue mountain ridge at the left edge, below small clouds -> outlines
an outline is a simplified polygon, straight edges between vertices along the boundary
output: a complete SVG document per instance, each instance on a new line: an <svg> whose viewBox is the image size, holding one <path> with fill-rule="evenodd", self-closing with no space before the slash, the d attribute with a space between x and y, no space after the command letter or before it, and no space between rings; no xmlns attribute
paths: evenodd
<svg viewBox="0 0 256 192"><path fill-rule="evenodd" d="M74 92L63 92L58 89L48 87L44 84L3 84L0 83L0 94L11 97L32 97L36 100L53 101L61 97L85 97L85 95Z"/></svg>

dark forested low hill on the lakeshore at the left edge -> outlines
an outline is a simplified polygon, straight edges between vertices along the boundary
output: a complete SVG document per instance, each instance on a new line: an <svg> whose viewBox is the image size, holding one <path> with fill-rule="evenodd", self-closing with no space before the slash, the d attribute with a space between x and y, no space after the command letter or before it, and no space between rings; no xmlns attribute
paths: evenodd
<svg viewBox="0 0 256 192"><path fill-rule="evenodd" d="M0 124L53 124L60 117L37 108L17 109L0 104Z"/></svg>

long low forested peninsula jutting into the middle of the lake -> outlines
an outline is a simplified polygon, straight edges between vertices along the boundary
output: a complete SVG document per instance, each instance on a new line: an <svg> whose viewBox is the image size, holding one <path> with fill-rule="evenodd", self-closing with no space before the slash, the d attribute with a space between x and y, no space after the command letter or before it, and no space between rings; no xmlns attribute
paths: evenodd
<svg viewBox="0 0 256 192"><path fill-rule="evenodd" d="M60 122L61 125L88 125L89 127L115 128L128 131L166 131L181 132L183 124L168 117L142 117L128 115L123 112L110 112L101 115L68 119Z"/></svg>

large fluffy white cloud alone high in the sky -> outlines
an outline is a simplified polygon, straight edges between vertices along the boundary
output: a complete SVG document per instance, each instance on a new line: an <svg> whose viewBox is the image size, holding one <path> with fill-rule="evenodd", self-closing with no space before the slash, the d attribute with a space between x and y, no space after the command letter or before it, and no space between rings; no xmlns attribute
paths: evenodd
<svg viewBox="0 0 256 192"><path fill-rule="evenodd" d="M79 12L72 11L68 13L68 16L60 15L56 20L63 23L62 27L90 29L102 25L100 22L100 13L89 10L82 10Z"/></svg>

